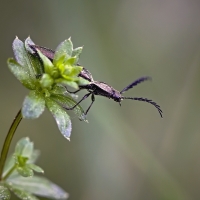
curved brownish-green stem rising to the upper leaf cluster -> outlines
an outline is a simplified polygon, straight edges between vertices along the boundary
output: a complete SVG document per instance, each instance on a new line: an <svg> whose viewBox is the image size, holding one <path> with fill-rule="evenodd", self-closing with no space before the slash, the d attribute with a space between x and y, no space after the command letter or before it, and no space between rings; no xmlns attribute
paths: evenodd
<svg viewBox="0 0 200 200"><path fill-rule="evenodd" d="M6 136L6 139L4 141L4 144L3 144L3 148L1 150L1 158L0 158L0 181L2 180L2 174L3 174L3 168L4 168L4 165L5 165L5 162L6 162L6 158L7 158L7 155L8 155L8 150L10 148L10 144L11 144L11 141L12 141L12 138L15 134L15 131L20 123L20 121L22 120L22 113L21 113L21 110L19 110L19 112L17 113L17 116L15 117L9 131L8 131L8 134Z"/></svg>

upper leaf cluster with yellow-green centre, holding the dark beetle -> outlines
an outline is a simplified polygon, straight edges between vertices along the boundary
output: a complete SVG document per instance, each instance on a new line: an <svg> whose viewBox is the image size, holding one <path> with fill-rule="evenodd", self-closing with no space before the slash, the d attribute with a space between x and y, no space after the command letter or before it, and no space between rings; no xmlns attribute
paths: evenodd
<svg viewBox="0 0 200 200"><path fill-rule="evenodd" d="M82 47L73 49L71 39L62 42L55 51L53 61L37 50L37 56L30 38L23 43L16 38L13 42L15 59L8 59L8 67L14 76L30 90L22 105L23 118L38 118L45 107L52 113L59 131L70 139L72 125L66 107L73 107L76 101L66 87L78 88L87 81L78 74L82 66L77 65ZM86 120L80 105L74 108L80 120Z"/></svg>

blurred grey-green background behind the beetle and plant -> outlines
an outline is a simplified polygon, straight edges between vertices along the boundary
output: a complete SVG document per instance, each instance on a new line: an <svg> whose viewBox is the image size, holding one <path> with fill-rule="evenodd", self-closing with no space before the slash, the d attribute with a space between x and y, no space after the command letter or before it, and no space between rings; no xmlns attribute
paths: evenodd
<svg viewBox="0 0 200 200"><path fill-rule="evenodd" d="M151 76L126 96L153 99L164 118L147 103L97 97L89 124L70 112L71 142L45 112L22 121L11 151L29 136L70 200L200 199L200 1L8 0L0 16L0 147L27 94L6 65L15 36L52 49L71 36L95 80L121 90Z"/></svg>

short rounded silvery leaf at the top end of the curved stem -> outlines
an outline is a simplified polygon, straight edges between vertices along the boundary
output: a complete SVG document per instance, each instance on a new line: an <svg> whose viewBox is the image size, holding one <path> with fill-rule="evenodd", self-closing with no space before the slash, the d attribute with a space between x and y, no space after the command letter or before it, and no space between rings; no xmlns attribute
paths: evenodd
<svg viewBox="0 0 200 200"><path fill-rule="evenodd" d="M31 91L23 102L22 116L27 119L35 119L43 113L44 109L44 97L37 91Z"/></svg>

